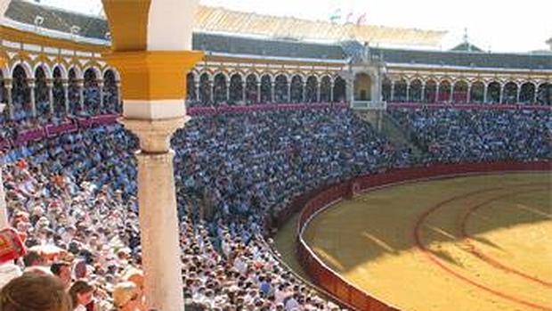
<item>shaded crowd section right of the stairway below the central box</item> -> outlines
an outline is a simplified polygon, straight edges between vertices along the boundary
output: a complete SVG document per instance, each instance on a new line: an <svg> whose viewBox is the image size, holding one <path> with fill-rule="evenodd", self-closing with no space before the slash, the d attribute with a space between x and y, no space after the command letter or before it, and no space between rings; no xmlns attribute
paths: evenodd
<svg viewBox="0 0 552 311"><path fill-rule="evenodd" d="M432 161L552 157L549 110L393 109L391 115Z"/></svg>

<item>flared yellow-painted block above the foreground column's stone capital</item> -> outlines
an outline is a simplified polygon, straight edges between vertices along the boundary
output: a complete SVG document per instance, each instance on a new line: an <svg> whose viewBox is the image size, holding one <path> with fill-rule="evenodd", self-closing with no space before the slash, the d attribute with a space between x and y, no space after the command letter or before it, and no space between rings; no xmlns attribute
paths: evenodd
<svg viewBox="0 0 552 311"><path fill-rule="evenodd" d="M110 53L105 58L121 73L125 100L154 101L185 98L185 72L203 55L197 51L141 51Z"/></svg>

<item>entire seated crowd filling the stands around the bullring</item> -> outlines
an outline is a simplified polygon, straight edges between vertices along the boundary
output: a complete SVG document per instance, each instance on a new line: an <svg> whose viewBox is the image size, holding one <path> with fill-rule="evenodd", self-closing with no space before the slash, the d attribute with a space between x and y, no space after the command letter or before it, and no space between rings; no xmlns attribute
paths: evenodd
<svg viewBox="0 0 552 311"><path fill-rule="evenodd" d="M544 113L393 114L412 127L419 143L442 144L445 151L429 151L434 160L550 156L550 120ZM449 133L444 127L459 128ZM479 134L481 141L475 140ZM497 140L505 145L494 147ZM458 147L462 143L466 146ZM480 147L485 144L491 149ZM409 150L342 108L196 117L175 133L172 146L184 292L188 307L200 310L339 309L280 262L269 238L273 220L304 192L416 165ZM110 125L4 152L10 222L24 235L28 253L0 266L0 304L28 306L14 289L32 281L53 291L47 297L67 291L72 306L67 310L146 309L136 148L134 135ZM483 156L453 154L464 149L481 150L475 154ZM4 308L10 309L0 305Z"/></svg>

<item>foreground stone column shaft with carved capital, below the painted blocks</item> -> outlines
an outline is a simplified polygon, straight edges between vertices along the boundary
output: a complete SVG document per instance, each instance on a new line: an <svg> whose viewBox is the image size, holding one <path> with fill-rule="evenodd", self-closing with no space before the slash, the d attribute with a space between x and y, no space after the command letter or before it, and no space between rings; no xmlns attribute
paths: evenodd
<svg viewBox="0 0 552 311"><path fill-rule="evenodd" d="M124 119L123 124L140 139L136 160L147 304L159 310L183 310L175 152L170 150L169 141L175 129L183 127L184 119Z"/></svg>

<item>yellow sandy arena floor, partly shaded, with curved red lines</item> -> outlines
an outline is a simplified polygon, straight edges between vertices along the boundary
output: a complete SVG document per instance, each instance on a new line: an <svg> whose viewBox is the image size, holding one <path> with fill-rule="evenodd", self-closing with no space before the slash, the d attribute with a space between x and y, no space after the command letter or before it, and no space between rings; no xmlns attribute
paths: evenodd
<svg viewBox="0 0 552 311"><path fill-rule="evenodd" d="M403 310L552 310L551 185L544 173L397 185L326 210L304 237Z"/></svg>

